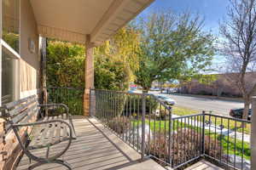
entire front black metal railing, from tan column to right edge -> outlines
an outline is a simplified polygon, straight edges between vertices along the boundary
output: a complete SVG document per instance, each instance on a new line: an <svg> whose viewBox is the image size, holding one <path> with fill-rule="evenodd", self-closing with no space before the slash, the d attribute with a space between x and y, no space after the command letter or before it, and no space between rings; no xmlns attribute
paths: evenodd
<svg viewBox="0 0 256 170"><path fill-rule="evenodd" d="M205 112L172 117L172 107L152 94L109 90L90 90L90 94L96 109L91 115L142 158L150 156L172 168L186 167L202 156L235 169L250 164L248 121Z"/></svg>

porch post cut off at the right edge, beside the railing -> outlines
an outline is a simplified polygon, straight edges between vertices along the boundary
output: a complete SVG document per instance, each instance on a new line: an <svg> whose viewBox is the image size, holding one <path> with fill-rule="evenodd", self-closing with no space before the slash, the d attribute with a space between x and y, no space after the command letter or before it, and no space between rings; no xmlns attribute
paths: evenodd
<svg viewBox="0 0 256 170"><path fill-rule="evenodd" d="M256 96L252 98L251 169L256 169Z"/></svg>

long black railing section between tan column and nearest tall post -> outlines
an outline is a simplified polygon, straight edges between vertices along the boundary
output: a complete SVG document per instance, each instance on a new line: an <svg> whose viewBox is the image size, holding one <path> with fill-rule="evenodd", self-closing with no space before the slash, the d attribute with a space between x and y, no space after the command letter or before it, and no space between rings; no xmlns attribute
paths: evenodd
<svg viewBox="0 0 256 170"><path fill-rule="evenodd" d="M141 152L144 136L141 134L143 95L109 90L91 90L91 93L95 94L95 116L127 144Z"/></svg>

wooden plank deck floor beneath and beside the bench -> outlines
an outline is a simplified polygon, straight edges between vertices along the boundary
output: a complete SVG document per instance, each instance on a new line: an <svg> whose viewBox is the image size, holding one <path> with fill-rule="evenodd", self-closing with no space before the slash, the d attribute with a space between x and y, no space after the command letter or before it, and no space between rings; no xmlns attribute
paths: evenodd
<svg viewBox="0 0 256 170"><path fill-rule="evenodd" d="M69 150L61 157L67 161L74 170L164 170L155 161L148 159L140 161L140 155L129 145L125 144L116 135L104 128L94 118L86 119L76 116L73 119L78 139L73 140ZM56 144L50 150L51 155L64 147L67 143ZM46 150L34 150L36 156L45 156ZM17 167L25 170L30 165L24 155ZM66 169L58 164L44 164L35 169Z"/></svg>

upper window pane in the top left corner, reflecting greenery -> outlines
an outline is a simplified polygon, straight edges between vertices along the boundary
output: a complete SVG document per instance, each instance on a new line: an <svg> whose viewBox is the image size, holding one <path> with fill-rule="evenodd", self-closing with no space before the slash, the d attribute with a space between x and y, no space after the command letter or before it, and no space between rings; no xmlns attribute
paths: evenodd
<svg viewBox="0 0 256 170"><path fill-rule="evenodd" d="M3 41L19 53L20 42L20 0L3 0Z"/></svg>

